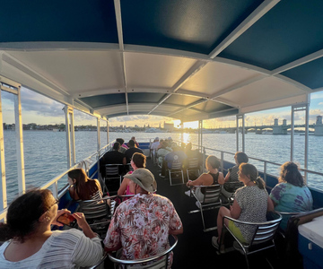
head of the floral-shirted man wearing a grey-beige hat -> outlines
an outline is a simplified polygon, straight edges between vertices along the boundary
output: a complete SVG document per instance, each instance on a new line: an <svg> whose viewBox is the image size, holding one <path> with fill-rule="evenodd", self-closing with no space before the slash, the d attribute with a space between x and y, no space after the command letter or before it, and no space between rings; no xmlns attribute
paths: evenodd
<svg viewBox="0 0 323 269"><path fill-rule="evenodd" d="M136 169L132 174L127 174L129 178L129 188L135 195L138 193L153 193L157 190L157 183L153 173L148 169Z"/></svg>

